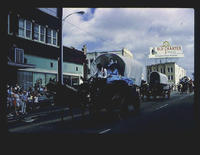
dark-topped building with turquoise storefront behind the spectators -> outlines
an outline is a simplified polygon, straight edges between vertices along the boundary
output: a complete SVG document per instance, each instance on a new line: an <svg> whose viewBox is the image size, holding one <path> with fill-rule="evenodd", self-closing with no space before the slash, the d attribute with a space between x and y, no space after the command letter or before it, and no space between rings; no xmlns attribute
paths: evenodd
<svg viewBox="0 0 200 155"><path fill-rule="evenodd" d="M8 83L24 89L37 81L46 85L58 78L60 17L58 8L24 8L8 12ZM63 81L80 83L84 53L63 47Z"/></svg>

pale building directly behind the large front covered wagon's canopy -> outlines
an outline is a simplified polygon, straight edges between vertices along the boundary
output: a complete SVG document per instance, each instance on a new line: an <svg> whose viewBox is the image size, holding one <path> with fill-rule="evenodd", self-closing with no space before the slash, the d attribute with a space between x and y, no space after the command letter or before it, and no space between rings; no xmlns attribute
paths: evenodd
<svg viewBox="0 0 200 155"><path fill-rule="evenodd" d="M102 51L102 52L90 52L86 54L86 61L87 61L87 66L88 66L88 78L91 76L90 75L90 67L92 62L100 55L102 54L107 54L107 53L113 53L113 54L117 54L120 56L126 56L126 57L131 57L133 58L133 54L131 53L131 51L129 51L126 48L123 48L122 50L116 50L116 51Z"/></svg>

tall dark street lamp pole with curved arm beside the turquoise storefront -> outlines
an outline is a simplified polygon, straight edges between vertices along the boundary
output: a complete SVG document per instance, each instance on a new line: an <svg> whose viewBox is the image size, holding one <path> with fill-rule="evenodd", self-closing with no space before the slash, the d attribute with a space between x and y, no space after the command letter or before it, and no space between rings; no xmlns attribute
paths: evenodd
<svg viewBox="0 0 200 155"><path fill-rule="evenodd" d="M60 56L59 56L59 59L58 59L58 82L59 84L63 85L63 71L62 71L62 66L63 66L63 44L62 44L62 25L63 25L63 22L65 21L65 19L73 14L84 14L85 12L84 11L78 11L78 12L74 12L74 13L71 13L67 16L65 16L64 18L62 18L62 15L63 15L63 11L62 11L62 8L60 10Z"/></svg>

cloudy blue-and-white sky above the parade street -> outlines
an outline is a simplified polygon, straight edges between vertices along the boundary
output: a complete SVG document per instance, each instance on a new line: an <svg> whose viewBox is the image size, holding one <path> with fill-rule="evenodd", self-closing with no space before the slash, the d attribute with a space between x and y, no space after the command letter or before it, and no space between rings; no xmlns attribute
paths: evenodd
<svg viewBox="0 0 200 155"><path fill-rule="evenodd" d="M182 46L184 58L172 59L193 78L194 9L192 8L64 8L63 45L87 52L115 51L126 48L134 59L146 64L150 47L164 41ZM170 60L169 60L170 61Z"/></svg>

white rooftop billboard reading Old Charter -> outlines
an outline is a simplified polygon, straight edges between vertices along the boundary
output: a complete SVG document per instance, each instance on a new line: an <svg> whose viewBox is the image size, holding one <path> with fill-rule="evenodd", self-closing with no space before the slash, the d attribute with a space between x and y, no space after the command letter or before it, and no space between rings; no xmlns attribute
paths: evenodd
<svg viewBox="0 0 200 155"><path fill-rule="evenodd" d="M171 46L164 41L160 47L150 47L149 58L178 58L184 57L182 46Z"/></svg>

